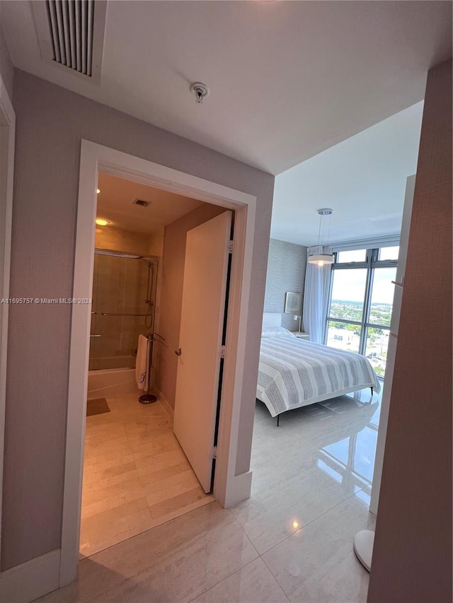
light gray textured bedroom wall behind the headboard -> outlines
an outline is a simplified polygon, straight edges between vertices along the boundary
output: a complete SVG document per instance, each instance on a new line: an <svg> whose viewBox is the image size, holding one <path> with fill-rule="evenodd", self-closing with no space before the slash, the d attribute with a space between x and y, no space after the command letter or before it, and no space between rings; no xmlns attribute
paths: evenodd
<svg viewBox="0 0 453 603"><path fill-rule="evenodd" d="M283 313L285 310L285 293L287 291L301 293L302 310L305 269L306 247L270 239L264 311L282 312L282 327L289 329L289 331L297 331L299 321L294 321L294 314ZM300 312L298 312L299 314Z"/></svg>

